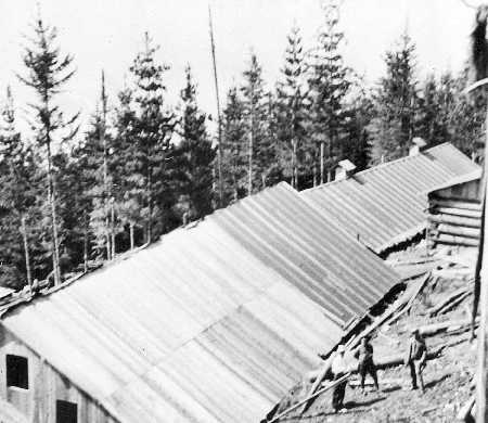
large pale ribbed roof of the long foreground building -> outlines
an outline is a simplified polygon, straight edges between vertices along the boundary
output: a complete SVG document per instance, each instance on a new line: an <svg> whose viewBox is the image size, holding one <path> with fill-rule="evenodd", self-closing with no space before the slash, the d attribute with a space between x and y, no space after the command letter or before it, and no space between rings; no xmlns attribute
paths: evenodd
<svg viewBox="0 0 488 423"><path fill-rule="evenodd" d="M257 422L399 277L281 183L9 311L120 422Z"/></svg>

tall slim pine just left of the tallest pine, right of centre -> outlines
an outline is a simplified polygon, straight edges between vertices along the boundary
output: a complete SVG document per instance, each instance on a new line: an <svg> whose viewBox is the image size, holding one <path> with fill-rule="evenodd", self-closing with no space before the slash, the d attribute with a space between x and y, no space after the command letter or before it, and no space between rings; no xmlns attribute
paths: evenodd
<svg viewBox="0 0 488 423"><path fill-rule="evenodd" d="M299 28L287 36L285 63L277 85L277 137L284 176L298 189L299 175L307 171L307 89L304 48Z"/></svg>

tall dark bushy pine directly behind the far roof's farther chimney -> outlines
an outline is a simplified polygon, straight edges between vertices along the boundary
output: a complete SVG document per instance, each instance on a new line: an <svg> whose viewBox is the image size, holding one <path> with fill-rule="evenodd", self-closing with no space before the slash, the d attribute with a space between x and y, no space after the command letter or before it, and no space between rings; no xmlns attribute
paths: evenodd
<svg viewBox="0 0 488 423"><path fill-rule="evenodd" d="M419 92L415 78L415 44L403 34L396 50L385 56L386 76L374 94L375 116L370 130L373 163L408 154L415 133Z"/></svg>

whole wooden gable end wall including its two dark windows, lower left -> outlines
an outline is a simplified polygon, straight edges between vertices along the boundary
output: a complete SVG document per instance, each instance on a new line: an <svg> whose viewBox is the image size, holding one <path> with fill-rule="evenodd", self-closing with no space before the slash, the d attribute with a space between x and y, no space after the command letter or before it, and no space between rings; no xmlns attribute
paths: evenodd
<svg viewBox="0 0 488 423"><path fill-rule="evenodd" d="M117 422L1 323L0 398L31 423Z"/></svg>

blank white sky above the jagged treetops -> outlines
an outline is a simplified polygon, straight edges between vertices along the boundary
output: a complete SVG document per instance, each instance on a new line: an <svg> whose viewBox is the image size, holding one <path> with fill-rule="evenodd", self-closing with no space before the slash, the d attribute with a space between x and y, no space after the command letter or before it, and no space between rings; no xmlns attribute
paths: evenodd
<svg viewBox="0 0 488 423"><path fill-rule="evenodd" d="M476 3L477 0L472 0ZM314 44L322 23L319 0L210 0L221 103L227 89L240 81L252 49L273 84L283 62L286 35L294 21L306 48ZM201 106L215 111L209 53L207 0L40 0L42 15L59 28L62 51L75 56L78 69L66 87L62 104L94 110L104 68L112 101L124 84L149 30L160 46L158 59L171 65L167 87L171 103L184 82L184 67L193 67ZM384 69L383 54L406 25L418 44L420 70L459 70L466 57L473 10L461 0L345 0L342 25L346 63L374 81ZM31 93L16 80L22 72L22 35L31 34L35 0L0 0L0 94L11 85L17 106ZM22 113L21 113L22 116Z"/></svg>

